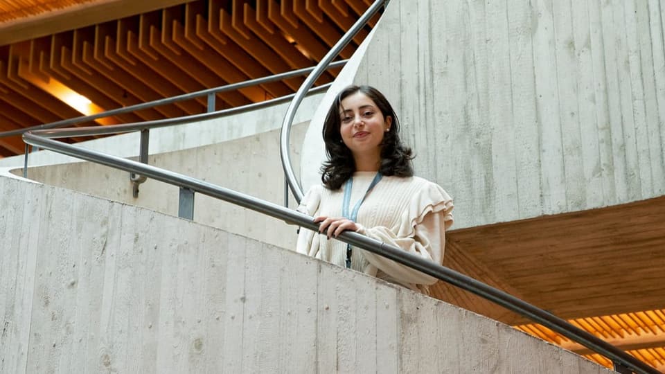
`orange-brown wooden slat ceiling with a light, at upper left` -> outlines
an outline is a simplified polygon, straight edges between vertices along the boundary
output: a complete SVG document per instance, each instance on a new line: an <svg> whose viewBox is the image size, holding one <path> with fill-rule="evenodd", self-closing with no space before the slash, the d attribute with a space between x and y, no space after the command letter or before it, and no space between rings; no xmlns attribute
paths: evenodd
<svg viewBox="0 0 665 374"><path fill-rule="evenodd" d="M123 2L127 3L98 3L117 8ZM32 3L35 6L30 8L36 10L39 3L44 9L46 3L77 8L88 2ZM0 46L0 132L82 115L53 93L53 84L85 96L99 111L312 66L370 4L370 0L199 0L10 42ZM19 13L4 9L4 17ZM86 14L97 13L88 9ZM71 14L62 15L66 16ZM351 57L369 30L371 26L362 30L340 58ZM0 24L0 32L8 31ZM332 81L336 72L325 73L317 84ZM217 109L291 94L303 80L291 78L219 94ZM205 110L205 98L200 98L109 118L105 124ZM23 152L19 136L0 139L0 156Z"/></svg>

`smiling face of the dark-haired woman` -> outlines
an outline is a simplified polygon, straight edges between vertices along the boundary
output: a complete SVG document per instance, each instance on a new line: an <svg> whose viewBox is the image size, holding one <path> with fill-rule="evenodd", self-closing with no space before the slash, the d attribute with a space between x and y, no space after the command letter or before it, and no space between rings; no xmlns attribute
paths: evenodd
<svg viewBox="0 0 665 374"><path fill-rule="evenodd" d="M380 161L383 135L390 129L393 118L384 118L374 101L360 91L342 100L339 117L342 141L356 161L359 157Z"/></svg>

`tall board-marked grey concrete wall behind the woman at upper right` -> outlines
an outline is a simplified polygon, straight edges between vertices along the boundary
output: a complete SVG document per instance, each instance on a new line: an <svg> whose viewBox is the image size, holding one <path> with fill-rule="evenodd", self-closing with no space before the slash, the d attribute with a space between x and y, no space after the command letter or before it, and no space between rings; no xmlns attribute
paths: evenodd
<svg viewBox="0 0 665 374"><path fill-rule="evenodd" d="M664 20L662 0L391 0L354 82L396 107L455 229L635 202L665 194Z"/></svg>

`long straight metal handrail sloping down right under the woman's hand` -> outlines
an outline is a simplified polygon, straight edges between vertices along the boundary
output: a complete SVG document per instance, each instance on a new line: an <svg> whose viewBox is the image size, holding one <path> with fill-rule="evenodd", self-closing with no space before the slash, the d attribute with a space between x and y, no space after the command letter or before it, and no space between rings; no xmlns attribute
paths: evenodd
<svg viewBox="0 0 665 374"><path fill-rule="evenodd" d="M283 220L287 224L296 224L305 229L310 229L313 231L318 231L319 229L319 224L314 223L312 217L303 213L299 213L298 211L285 208L272 202L266 202L264 200L257 199L256 197L238 193L228 188L215 186L209 182L188 177L186 175L181 175L177 172L163 170L161 168L150 166L145 163L123 159L121 157L116 157L109 154L103 154L94 150L78 148L75 145L62 143L60 141L54 141L52 139L48 139L48 135L55 135L53 131L58 130L51 131L52 132L49 132L48 134L44 134L44 132L46 132L44 130L27 132L24 134L23 139L26 143L30 145L36 145L39 148L44 148L53 152L66 154L71 157L77 157L79 159L100 163L112 168L134 172L139 175L145 175L146 177L179 186L180 188L188 188L194 192L202 193L210 197L224 200L225 202L230 202L232 204L242 206L243 208L251 209L252 211L263 213L277 218L278 220ZM612 361L615 362L615 365L619 363L621 366L635 370L637 373L659 373L651 366L648 366L635 357L628 355L627 353L623 352L623 350L612 346L606 341L598 339L598 337L589 334L589 332L581 330L580 328L576 328L567 321L560 319L559 317L556 317L549 312L545 312L544 310L526 303L525 301L517 299L515 296L507 294L501 290L497 290L494 287L490 287L489 285L477 281L474 278L465 276L464 274L461 274L457 271L443 267L442 265L438 265L429 260L425 260L424 258L415 256L414 254L407 253L391 244L386 244L379 242L378 240L367 238L366 236L360 235L359 233L344 231L342 234L337 236L337 239L355 247L365 249L366 251L377 253L380 256L384 256L390 260L407 265L408 267L417 269L418 271L422 271L429 276L434 276L441 281L445 281L456 287L460 287L463 290L467 290L468 292L472 292L481 297L484 297L485 299L493 301L494 303L497 303L508 310L520 313L523 316L528 317L535 322L541 323L551 330L559 332L561 335L573 339L583 346L586 346L587 348L590 348L600 353L601 355L612 359Z"/></svg>

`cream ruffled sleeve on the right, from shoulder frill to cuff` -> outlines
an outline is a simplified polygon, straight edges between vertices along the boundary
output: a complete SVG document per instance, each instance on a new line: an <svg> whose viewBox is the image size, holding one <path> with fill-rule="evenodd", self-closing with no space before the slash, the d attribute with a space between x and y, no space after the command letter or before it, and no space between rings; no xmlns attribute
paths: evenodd
<svg viewBox="0 0 665 374"><path fill-rule="evenodd" d="M453 222L452 199L441 186L429 181L424 183L423 188L407 201L397 226L392 229L385 226L361 227L358 232L441 265L445 230ZM432 285L438 281L432 276L375 253L363 251L363 254L371 266L386 275L381 276L380 272L377 272L377 276L387 281L413 285Z"/></svg>

